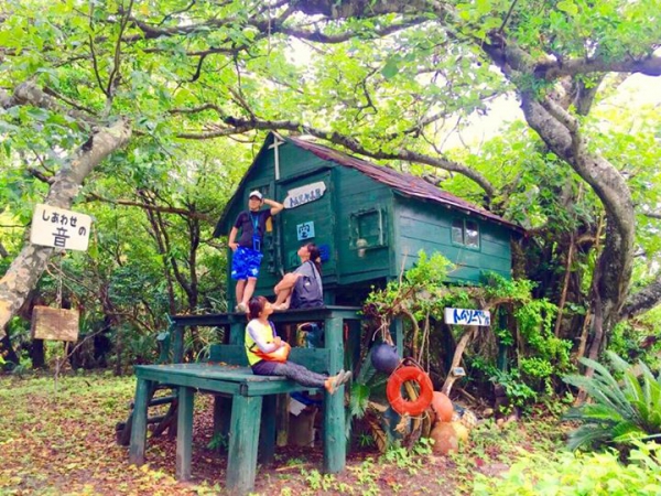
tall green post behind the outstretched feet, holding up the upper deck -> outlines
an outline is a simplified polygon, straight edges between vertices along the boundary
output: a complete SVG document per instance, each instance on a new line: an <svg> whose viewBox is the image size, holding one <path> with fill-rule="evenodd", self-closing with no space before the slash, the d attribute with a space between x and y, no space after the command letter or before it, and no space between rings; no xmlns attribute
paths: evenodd
<svg viewBox="0 0 661 496"><path fill-rule="evenodd" d="M326 348L328 373L337 374L344 363L343 320L326 319ZM335 474L346 465L347 440L345 436L344 386L335 395L325 392L324 398L324 471Z"/></svg>

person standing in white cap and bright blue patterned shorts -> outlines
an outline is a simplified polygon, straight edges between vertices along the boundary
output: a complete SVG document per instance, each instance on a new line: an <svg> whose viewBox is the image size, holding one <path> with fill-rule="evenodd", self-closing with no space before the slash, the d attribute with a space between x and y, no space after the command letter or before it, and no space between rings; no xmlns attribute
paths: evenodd
<svg viewBox="0 0 661 496"><path fill-rule="evenodd" d="M260 211L267 204L271 208ZM284 205L273 200L264 198L254 190L248 196L248 211L241 212L229 231L229 248L234 251L231 257L231 278L237 281L237 312L247 312L248 302L252 298L259 266L263 254L261 245L267 230L267 220L284 208ZM237 235L241 233L237 240Z"/></svg>

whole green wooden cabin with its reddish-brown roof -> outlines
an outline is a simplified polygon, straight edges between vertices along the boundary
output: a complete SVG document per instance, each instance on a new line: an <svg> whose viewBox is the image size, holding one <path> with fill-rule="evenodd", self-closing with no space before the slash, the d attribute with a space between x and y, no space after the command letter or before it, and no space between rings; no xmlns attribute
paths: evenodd
<svg viewBox="0 0 661 496"><path fill-rule="evenodd" d="M256 294L272 294L310 241L322 249L327 304L361 304L370 285L398 277L421 249L455 263L451 281L457 283L476 283L484 271L509 278L510 240L523 231L420 177L270 133L215 236L229 234L252 190L285 205L264 238ZM234 288L229 269L227 278Z"/></svg>

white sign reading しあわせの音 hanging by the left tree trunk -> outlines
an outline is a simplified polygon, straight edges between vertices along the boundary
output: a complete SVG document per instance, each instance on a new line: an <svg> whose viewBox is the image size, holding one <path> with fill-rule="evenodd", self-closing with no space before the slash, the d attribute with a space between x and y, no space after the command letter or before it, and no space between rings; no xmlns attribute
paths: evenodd
<svg viewBox="0 0 661 496"><path fill-rule="evenodd" d="M37 204L32 216L30 242L67 250L87 250L91 217Z"/></svg>

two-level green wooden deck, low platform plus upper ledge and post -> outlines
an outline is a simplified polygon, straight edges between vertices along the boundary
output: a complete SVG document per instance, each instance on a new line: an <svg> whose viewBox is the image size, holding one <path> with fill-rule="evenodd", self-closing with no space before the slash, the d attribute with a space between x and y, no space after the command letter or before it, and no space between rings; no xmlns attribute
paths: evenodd
<svg viewBox="0 0 661 496"><path fill-rule="evenodd" d="M289 315L288 315L289 314ZM323 308L314 311L292 311L274 314L280 322L325 322L324 348L292 348L290 359L314 371L336 374L344 363L344 323L359 323L357 309ZM177 326L235 324L227 314L203 316L174 316ZM229 341L241 341L246 317L237 319L229 333ZM175 338L176 344L176 338ZM138 385L132 419L130 462L144 463L147 443L147 408L149 391L158 384L178 388L176 477L191 477L194 395L208 391L221 395L223 408L230 413L229 449L227 463L227 489L232 494L246 494L254 486L258 448L262 461L269 462L275 450L275 399L277 395L310 390L286 378L256 376L247 367L242 343L215 345L210 360L204 364L140 365L136 366ZM338 473L345 468L346 438L344 386L335 395L324 392L324 471Z"/></svg>

